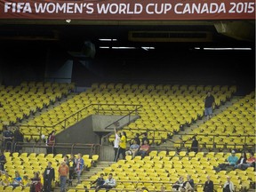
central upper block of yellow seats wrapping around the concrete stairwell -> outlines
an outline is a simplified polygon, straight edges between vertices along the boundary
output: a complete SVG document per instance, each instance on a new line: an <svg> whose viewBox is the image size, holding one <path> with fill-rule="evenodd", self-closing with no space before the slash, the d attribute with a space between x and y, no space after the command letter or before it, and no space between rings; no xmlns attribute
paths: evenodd
<svg viewBox="0 0 256 192"><path fill-rule="evenodd" d="M166 139L166 132L178 132L180 130L180 125L192 124L197 118L204 116L205 92L197 93L192 90L190 94L181 92L178 94L178 91L173 94L173 92L157 93L143 90L134 93L132 92L132 88L129 90L126 87L125 89L126 91L120 89L118 91L116 90L115 93L109 93L108 90L100 91L100 88L96 89L95 87L92 87L92 89L88 89L86 92L76 95L74 98L60 104L60 106L56 108L52 108L52 110L43 113L41 116L36 116L28 122L29 126L26 127L26 124L24 124L24 130L29 130L24 132L27 135L26 138L28 138L28 140L33 137L40 139L39 136L36 135L33 137L29 136L32 133L36 134L36 132L38 132L35 129L36 127L31 127L33 125L37 125L38 127L42 124L45 126L58 124L54 126L54 129L58 133L68 126L76 124L77 121L86 116L96 113L102 115L124 115L125 113L128 113L127 111L134 109L134 106L131 106L131 104L140 104L143 106L138 111L140 119L135 121L134 124L130 124L126 127L127 130L132 129L132 132L130 132L131 134L128 131L128 135L132 135L136 132L135 129L137 129L137 131L144 128L159 130L160 132L156 133L157 136L159 135L156 140L158 143L161 143L163 138ZM216 98L218 95L222 97L224 94L224 97L227 100L231 97L232 90L233 89L230 87L230 90L227 90L227 92L222 90L220 94L217 90ZM151 95L148 95L148 92L150 92ZM114 102L116 105L113 105ZM92 106L88 107L90 105ZM78 110L82 111L77 116L72 116L72 114L75 114ZM60 123L68 116L71 117L65 122ZM45 128L42 132L47 135L51 131L50 128Z"/></svg>

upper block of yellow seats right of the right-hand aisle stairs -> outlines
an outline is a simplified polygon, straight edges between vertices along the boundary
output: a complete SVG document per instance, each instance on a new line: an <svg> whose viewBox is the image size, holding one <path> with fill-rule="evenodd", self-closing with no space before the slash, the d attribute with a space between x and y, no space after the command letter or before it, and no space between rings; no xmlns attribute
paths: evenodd
<svg viewBox="0 0 256 192"><path fill-rule="evenodd" d="M201 124L194 129L191 135L183 136L183 140L191 140L193 135L205 134L197 136L201 144L212 146L215 144L217 148L244 148L255 144L255 93L245 96L238 100L232 106L224 110L217 116L213 116L211 120ZM246 106L246 108L243 108ZM215 134L217 136L209 136L207 134ZM218 137L219 135L227 135L227 137ZM230 135L230 136L229 136ZM242 136L243 137L242 137ZM179 144L177 144L179 145Z"/></svg>

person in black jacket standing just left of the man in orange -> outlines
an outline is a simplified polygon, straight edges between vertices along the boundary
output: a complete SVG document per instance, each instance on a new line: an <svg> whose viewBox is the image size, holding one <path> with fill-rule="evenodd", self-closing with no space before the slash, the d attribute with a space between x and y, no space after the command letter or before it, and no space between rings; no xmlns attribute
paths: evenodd
<svg viewBox="0 0 256 192"><path fill-rule="evenodd" d="M52 163L48 162L48 166L44 170L44 192L52 191L52 180L55 180L55 172Z"/></svg>

